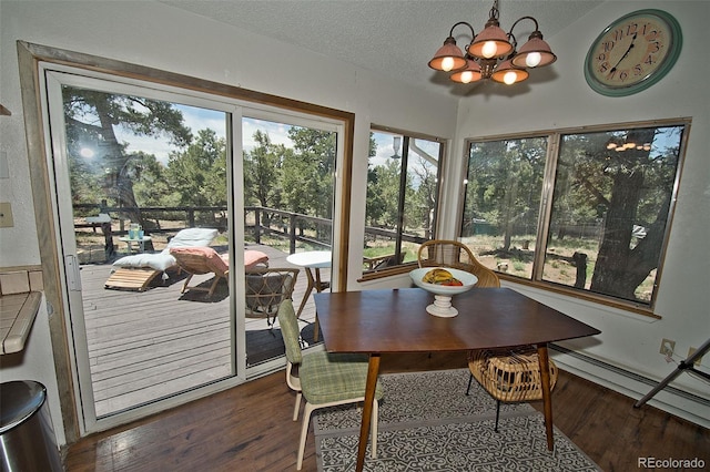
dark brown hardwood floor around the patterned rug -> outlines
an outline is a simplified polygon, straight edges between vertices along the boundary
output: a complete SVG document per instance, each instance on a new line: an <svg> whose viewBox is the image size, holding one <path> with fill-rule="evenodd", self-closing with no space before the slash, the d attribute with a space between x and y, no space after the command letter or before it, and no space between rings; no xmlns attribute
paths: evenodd
<svg viewBox="0 0 710 472"><path fill-rule="evenodd" d="M383 356L381 371L465 367L465 355ZM462 386L465 389L465 386ZM555 424L605 471L642 470L638 458L702 459L710 431L560 372L552 393ZM69 448L80 471L295 470L301 422L280 371L135 423L93 434ZM539 409L537 403L534 403ZM313 430L304 471L315 471Z"/></svg>

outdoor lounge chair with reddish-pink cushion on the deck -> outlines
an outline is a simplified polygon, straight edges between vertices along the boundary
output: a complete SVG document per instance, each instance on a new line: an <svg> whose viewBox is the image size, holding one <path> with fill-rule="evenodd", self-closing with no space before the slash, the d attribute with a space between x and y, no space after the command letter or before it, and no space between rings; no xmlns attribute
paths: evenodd
<svg viewBox="0 0 710 472"><path fill-rule="evenodd" d="M189 274L182 286L181 293L190 290L203 290L207 297L212 297L217 283L230 274L230 255L220 255L212 247L174 247L170 249L171 256L178 261L178 266ZM244 252L244 267L251 270L258 266L268 266L268 256L261 250L247 249ZM195 275L214 274L212 285L206 287L192 286L190 280Z"/></svg>

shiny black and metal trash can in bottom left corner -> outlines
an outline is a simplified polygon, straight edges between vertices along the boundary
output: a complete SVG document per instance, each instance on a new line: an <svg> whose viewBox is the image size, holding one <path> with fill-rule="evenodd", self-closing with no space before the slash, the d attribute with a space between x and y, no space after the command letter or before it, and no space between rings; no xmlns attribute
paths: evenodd
<svg viewBox="0 0 710 472"><path fill-rule="evenodd" d="M63 470L43 384L0 383L0 465L3 472Z"/></svg>

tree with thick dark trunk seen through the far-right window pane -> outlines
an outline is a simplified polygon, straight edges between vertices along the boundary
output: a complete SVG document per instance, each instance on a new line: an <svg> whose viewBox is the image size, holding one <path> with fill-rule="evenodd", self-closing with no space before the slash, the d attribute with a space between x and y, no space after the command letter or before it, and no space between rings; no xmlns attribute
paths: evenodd
<svg viewBox="0 0 710 472"><path fill-rule="evenodd" d="M670 142L680 130L565 136L554 212L576 208L568 212L572 223L590 215L602 223L591 291L636 300L636 290L658 267L679 152L676 145L662 148L660 143ZM616 142L635 146L618 151ZM635 235L639 227L645 228L640 238Z"/></svg>

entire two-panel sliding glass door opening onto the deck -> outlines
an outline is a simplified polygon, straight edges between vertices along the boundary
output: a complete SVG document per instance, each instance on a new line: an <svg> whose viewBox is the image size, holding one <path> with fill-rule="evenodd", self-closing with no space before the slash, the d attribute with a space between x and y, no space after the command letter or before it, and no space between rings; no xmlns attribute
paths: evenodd
<svg viewBox="0 0 710 472"><path fill-rule="evenodd" d="M278 298L250 301L278 269L316 342L307 268L288 256L337 254L342 123L60 65L41 79L84 431L283 367Z"/></svg>

